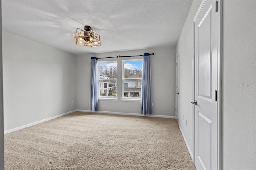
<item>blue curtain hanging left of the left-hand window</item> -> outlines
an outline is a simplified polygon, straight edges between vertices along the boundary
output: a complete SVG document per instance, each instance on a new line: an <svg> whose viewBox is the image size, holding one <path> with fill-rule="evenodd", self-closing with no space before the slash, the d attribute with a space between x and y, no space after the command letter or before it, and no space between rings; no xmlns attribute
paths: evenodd
<svg viewBox="0 0 256 170"><path fill-rule="evenodd" d="M90 110L98 110L98 66L97 58L91 57Z"/></svg>

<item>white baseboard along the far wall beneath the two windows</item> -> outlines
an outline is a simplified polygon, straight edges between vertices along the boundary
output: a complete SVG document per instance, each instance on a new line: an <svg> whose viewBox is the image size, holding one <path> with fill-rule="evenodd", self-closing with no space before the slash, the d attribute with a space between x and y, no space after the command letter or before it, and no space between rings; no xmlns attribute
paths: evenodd
<svg viewBox="0 0 256 170"><path fill-rule="evenodd" d="M165 115L142 115L142 114L138 114L138 113L123 113L123 112L112 112L112 111L91 111L91 110L76 110L76 111L88 112L88 113L105 113L105 114L113 114L113 115L129 115L129 116L160 117L160 118L175 119L175 116L165 116Z"/></svg>

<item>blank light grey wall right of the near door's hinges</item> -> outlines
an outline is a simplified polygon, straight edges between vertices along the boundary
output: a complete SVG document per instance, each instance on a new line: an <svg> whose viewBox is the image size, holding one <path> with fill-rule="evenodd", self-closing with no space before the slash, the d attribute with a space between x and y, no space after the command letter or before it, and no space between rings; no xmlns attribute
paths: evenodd
<svg viewBox="0 0 256 170"><path fill-rule="evenodd" d="M223 1L223 169L256 169L256 1Z"/></svg>

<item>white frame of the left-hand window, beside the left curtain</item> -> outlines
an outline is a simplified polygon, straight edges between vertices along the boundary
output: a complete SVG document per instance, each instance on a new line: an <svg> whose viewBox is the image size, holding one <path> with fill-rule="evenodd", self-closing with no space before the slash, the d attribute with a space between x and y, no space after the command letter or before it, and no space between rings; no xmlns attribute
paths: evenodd
<svg viewBox="0 0 256 170"><path fill-rule="evenodd" d="M117 60L113 60L113 61L98 61L98 84L100 83L100 63L116 63L116 68L117 68L117 74L118 74L118 61ZM108 80L108 81L115 81L115 82L111 82L111 84L112 83L116 83L117 84L117 81L118 81L118 76L117 76L117 78L116 79L106 79L106 80ZM105 84L105 82L104 81L101 81L102 83L103 83L103 86L102 87L104 87L104 84ZM109 84L110 82L107 82L107 84ZM117 93L117 86L116 86L116 96L100 96L100 86L98 85L98 99L99 100L117 100L118 99L118 93ZM107 88L109 88L108 87L108 85L107 85ZM112 88L112 87L111 87Z"/></svg>

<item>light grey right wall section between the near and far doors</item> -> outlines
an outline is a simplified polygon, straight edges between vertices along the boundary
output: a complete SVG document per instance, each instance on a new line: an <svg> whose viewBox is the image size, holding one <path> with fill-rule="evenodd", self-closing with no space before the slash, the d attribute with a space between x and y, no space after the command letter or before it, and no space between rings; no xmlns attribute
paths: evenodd
<svg viewBox="0 0 256 170"><path fill-rule="evenodd" d="M193 19L201 4L201 0L192 2L186 22L182 29L176 53L180 50L180 129L190 152L193 154ZM187 124L183 121L183 115Z"/></svg>

